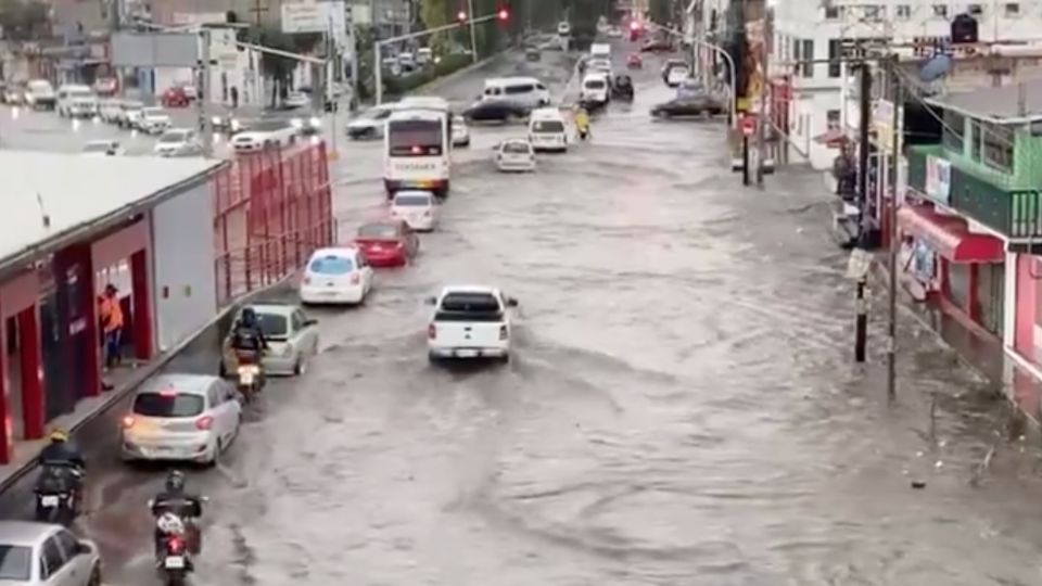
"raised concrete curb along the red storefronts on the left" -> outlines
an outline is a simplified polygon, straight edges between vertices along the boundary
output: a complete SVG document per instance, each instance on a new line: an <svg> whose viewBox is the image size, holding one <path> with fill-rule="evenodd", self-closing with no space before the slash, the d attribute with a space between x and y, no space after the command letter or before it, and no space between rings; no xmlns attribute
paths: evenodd
<svg viewBox="0 0 1042 586"><path fill-rule="evenodd" d="M85 425L87 425L91 421L109 412L109 410L112 409L117 403L119 403L119 400L122 400L124 397L132 393L135 390L141 386L141 384L144 383L144 381L152 378L152 375L158 372L163 367L168 365L171 360L174 360L174 358L176 358L181 352L183 352L186 348L188 348L188 346L190 346L200 336L202 336L206 332L206 330L213 328L215 324L220 322L220 320L227 318L229 314L237 310L243 304L250 303L252 300L255 300L256 297L259 297L265 293L268 293L280 286L285 285L287 283L292 281L294 278L296 278L297 273L298 271L294 271L293 273L287 276L283 279L280 279L275 283L260 288L256 291L251 291L250 293L246 293L245 295L242 295L241 297L237 298L234 302L218 309L217 313L211 319L206 320L206 322L202 327L196 329L190 335L186 336L185 340L175 344L170 349L168 349L167 352L164 352L162 355L154 358L148 365L137 369L134 375L130 378L130 380L127 381L127 383L123 387L113 388L112 391L109 391L107 392L109 395L105 397L103 402L99 403L93 410L88 412L86 416L84 416L82 419L80 419L79 421L77 421L76 423L72 424L68 428L67 431L69 436L75 436L78 430L82 429ZM33 458L31 460L28 460L27 462L25 462L21 468L14 470L8 477L0 481L0 493L3 493L9 488L11 488L14 484L17 484L23 477L25 477L26 474L35 470L37 466L38 466L37 459Z"/></svg>

